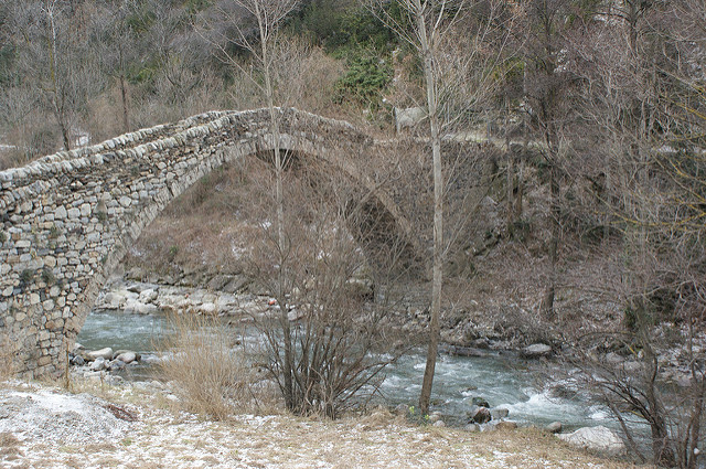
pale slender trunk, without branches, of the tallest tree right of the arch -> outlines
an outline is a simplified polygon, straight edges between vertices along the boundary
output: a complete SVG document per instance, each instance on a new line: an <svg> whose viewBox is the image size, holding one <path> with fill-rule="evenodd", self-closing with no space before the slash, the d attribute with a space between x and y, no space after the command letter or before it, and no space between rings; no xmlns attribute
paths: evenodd
<svg viewBox="0 0 706 469"><path fill-rule="evenodd" d="M422 415L429 413L431 387L437 364L439 349L439 316L441 313L441 286L443 284L443 172L441 167L441 138L439 116L437 109L436 79L434 75L434 55L427 38L422 8L419 0L415 0L417 9L416 21L424 55L425 86L427 88L427 106L429 108L429 129L431 132L431 158L434 171L434 264L431 280L431 321L429 323L429 345L427 349L427 364L424 371L419 411Z"/></svg>

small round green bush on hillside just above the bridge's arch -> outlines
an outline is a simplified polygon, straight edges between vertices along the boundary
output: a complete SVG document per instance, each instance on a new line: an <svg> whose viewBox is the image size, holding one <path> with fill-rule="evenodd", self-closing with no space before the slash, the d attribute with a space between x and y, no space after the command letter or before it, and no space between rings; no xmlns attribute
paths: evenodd
<svg viewBox="0 0 706 469"><path fill-rule="evenodd" d="M393 68L375 53L361 50L351 54L349 70L336 83L339 103L355 103L372 110L382 106L382 94L389 85Z"/></svg>

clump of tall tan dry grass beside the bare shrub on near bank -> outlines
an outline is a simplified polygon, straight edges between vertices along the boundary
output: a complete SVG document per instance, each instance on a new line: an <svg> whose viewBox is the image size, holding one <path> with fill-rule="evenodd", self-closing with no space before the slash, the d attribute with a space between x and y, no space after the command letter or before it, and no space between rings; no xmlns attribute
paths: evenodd
<svg viewBox="0 0 706 469"><path fill-rule="evenodd" d="M171 323L175 333L160 345L160 373L186 411L223 420L259 404L257 374L217 318L174 313Z"/></svg>

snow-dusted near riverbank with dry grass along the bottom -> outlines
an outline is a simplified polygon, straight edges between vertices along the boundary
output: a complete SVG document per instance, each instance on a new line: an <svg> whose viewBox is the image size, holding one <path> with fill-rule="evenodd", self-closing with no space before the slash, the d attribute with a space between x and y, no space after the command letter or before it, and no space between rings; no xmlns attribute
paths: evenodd
<svg viewBox="0 0 706 469"><path fill-rule="evenodd" d="M0 466L169 468L628 468L536 429L416 426L379 409L339 420L277 408L213 422L159 386L0 385Z"/></svg>

